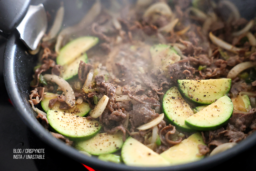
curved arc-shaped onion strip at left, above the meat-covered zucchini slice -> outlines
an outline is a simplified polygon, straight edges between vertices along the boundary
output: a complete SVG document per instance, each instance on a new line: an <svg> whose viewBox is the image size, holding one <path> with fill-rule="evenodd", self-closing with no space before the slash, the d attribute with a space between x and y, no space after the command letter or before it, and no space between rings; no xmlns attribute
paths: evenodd
<svg viewBox="0 0 256 171"><path fill-rule="evenodd" d="M44 78L47 81L51 81L51 82L58 84L58 86L62 89L62 91L66 97L65 102L70 107L75 106L75 102L76 102L75 93L74 93L72 87L69 85L69 83L66 80L64 80L63 78L56 76L54 74L45 74Z"/></svg>

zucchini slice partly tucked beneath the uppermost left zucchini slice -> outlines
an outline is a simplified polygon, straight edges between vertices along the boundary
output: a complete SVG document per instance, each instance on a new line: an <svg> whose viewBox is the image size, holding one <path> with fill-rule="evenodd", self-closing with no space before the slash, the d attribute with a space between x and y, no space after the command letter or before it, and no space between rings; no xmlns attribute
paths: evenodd
<svg viewBox="0 0 256 171"><path fill-rule="evenodd" d="M64 69L61 75L64 80L68 80L77 76L80 61L87 62L86 53L75 59L75 61L71 62L70 64L63 66Z"/></svg>

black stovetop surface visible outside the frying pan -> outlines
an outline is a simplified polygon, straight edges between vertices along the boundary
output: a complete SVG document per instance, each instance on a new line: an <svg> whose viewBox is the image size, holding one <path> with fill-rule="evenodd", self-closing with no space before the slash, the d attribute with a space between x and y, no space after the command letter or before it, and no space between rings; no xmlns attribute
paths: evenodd
<svg viewBox="0 0 256 171"><path fill-rule="evenodd" d="M5 40L0 37L0 170L55 171L67 170L67 168L72 168L75 171L87 170L79 162L42 142L18 116L18 112L8 100L3 80L4 42ZM21 151L44 149L44 153L41 153L44 154L44 158L33 159L26 156L26 158L21 159L18 149L21 149ZM214 164L207 171L216 171L223 168L228 168L229 170L255 170L255 154L256 145L221 164Z"/></svg>

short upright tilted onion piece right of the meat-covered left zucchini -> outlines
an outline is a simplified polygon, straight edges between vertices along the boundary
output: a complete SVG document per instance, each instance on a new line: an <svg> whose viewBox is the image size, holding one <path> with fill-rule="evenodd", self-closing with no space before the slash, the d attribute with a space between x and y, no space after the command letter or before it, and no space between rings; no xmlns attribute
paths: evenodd
<svg viewBox="0 0 256 171"><path fill-rule="evenodd" d="M98 118L105 110L107 104L108 104L108 96L103 95L101 99L98 101L97 105L94 107L94 109L90 112L90 116L93 118Z"/></svg>

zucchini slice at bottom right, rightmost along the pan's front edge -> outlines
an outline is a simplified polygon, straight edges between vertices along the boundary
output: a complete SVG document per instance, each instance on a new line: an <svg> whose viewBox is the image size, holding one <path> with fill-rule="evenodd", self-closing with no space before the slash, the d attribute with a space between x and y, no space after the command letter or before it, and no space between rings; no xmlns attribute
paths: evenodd
<svg viewBox="0 0 256 171"><path fill-rule="evenodd" d="M162 152L160 156L168 160L171 165L185 164L201 160L204 156L199 156L198 145L205 145L200 133L194 133L187 139L181 141L180 144L170 147Z"/></svg>

